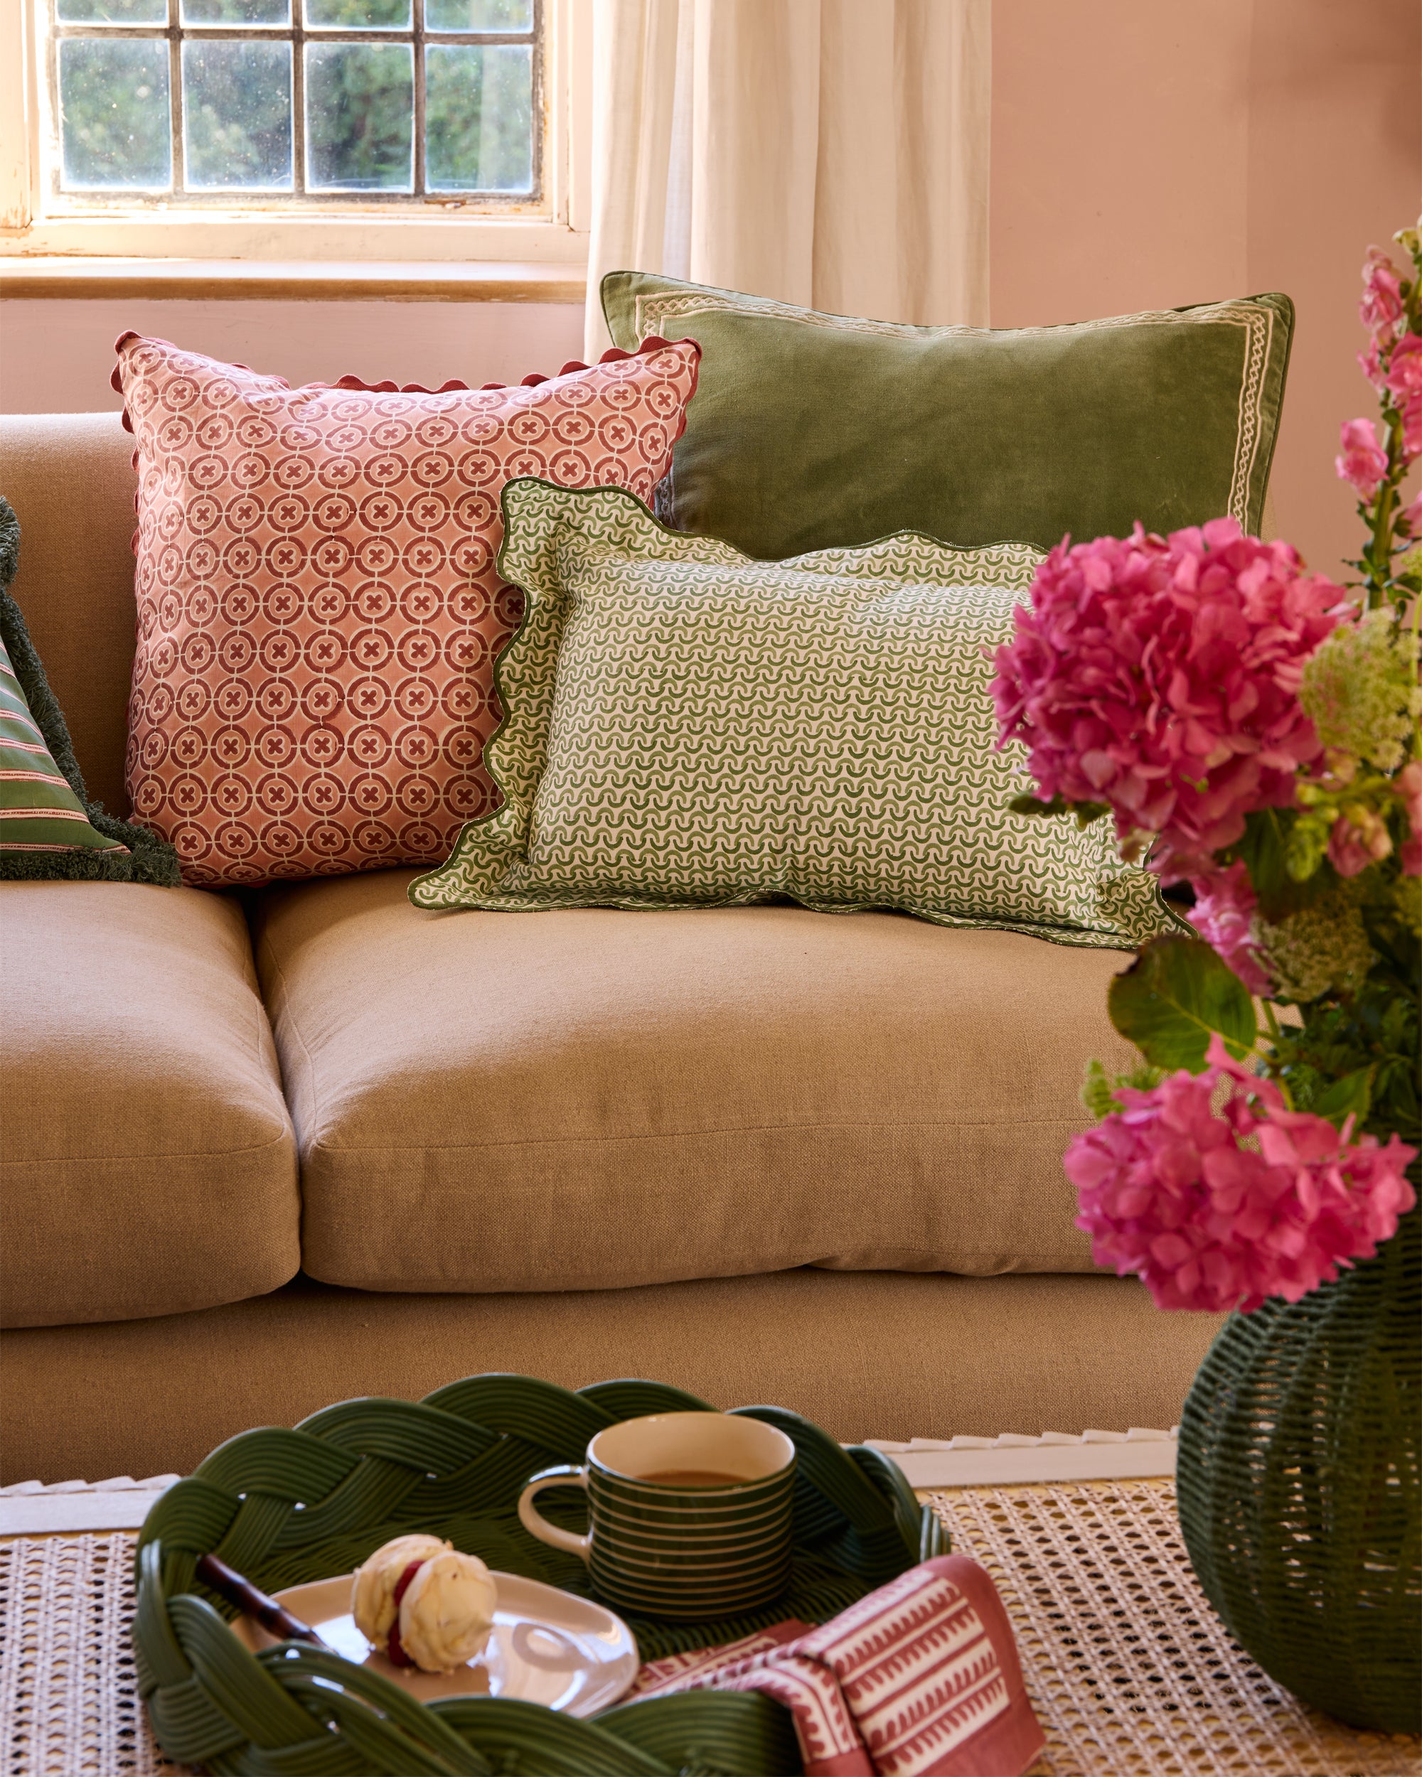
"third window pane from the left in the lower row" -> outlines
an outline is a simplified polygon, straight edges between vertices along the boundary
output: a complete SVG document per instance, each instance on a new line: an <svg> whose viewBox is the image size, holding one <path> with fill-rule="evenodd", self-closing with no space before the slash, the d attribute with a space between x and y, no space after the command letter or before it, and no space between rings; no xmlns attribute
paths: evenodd
<svg viewBox="0 0 1422 1777"><path fill-rule="evenodd" d="M405 43L306 46L306 183L320 192L414 185L414 57Z"/></svg>

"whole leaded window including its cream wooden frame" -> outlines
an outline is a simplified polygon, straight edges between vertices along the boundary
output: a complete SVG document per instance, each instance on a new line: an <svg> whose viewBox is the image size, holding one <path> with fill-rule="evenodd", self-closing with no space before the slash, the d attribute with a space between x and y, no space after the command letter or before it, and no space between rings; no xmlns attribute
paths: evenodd
<svg viewBox="0 0 1422 1777"><path fill-rule="evenodd" d="M576 263L579 11L27 0L28 41L0 39L5 249Z"/></svg>

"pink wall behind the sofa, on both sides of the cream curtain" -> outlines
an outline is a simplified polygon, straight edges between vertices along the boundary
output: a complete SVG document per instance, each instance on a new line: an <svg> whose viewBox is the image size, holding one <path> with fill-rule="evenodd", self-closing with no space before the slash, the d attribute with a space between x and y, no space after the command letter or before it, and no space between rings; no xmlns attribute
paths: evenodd
<svg viewBox="0 0 1422 1777"><path fill-rule="evenodd" d="M1337 572L1358 538L1338 421L1369 396L1358 267L1422 203L1422 7L994 0L992 50L994 325L1287 290L1278 530ZM581 355L558 304L9 302L0 407L114 405L124 327L293 382L514 382Z"/></svg>

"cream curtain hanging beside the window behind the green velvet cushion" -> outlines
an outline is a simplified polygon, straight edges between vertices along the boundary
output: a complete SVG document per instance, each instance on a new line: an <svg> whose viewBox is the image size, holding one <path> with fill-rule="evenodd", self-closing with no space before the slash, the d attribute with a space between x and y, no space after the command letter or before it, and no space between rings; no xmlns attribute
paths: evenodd
<svg viewBox="0 0 1422 1777"><path fill-rule="evenodd" d="M987 325L992 0L587 0L597 284Z"/></svg>

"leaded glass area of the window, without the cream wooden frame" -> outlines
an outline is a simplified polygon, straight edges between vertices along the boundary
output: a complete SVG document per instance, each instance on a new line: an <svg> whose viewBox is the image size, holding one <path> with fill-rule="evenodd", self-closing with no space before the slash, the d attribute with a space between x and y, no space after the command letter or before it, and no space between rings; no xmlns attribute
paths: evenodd
<svg viewBox="0 0 1422 1777"><path fill-rule="evenodd" d="M537 0L52 0L53 192L537 203Z"/></svg>

